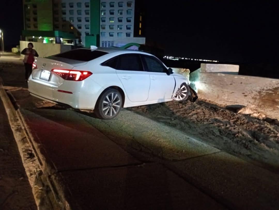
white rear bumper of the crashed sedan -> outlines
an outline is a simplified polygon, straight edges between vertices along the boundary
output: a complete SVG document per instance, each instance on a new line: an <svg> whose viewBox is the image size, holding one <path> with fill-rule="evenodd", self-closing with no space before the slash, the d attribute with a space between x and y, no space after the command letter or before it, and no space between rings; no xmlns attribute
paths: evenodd
<svg viewBox="0 0 279 210"><path fill-rule="evenodd" d="M30 76L28 90L33 96L43 100L66 104L76 109L93 110L102 87L93 83L90 85L94 85L94 87L84 86L84 84L82 81L64 81L62 85L55 86ZM58 90L71 93L59 92Z"/></svg>

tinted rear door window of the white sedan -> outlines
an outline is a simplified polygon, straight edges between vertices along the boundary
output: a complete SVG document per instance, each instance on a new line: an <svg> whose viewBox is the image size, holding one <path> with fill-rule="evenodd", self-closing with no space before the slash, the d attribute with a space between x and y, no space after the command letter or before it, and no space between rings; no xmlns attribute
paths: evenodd
<svg viewBox="0 0 279 210"><path fill-rule="evenodd" d="M140 56L138 54L119 55L116 69L127 71L143 71Z"/></svg>

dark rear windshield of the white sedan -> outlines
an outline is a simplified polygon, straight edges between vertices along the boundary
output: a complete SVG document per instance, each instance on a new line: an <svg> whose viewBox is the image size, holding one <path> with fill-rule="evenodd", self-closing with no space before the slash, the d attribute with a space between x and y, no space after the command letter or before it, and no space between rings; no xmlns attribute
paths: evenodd
<svg viewBox="0 0 279 210"><path fill-rule="evenodd" d="M90 49L76 49L54 55L54 57L68 58L76 61L91 61L105 54L108 53L99 50L91 51Z"/></svg>

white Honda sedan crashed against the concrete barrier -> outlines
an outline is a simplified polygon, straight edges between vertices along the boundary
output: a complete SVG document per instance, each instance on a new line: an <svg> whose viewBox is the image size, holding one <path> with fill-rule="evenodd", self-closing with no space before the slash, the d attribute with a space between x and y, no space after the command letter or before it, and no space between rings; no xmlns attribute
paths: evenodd
<svg viewBox="0 0 279 210"><path fill-rule="evenodd" d="M194 93L188 84L186 77L151 54L81 48L37 58L28 90L43 100L94 110L99 118L112 119L121 107L186 100Z"/></svg>

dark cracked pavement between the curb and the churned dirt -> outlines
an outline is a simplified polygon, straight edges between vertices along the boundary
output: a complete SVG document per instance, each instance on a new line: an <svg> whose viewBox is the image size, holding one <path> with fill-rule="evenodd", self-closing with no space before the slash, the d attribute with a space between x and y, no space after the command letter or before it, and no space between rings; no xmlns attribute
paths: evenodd
<svg viewBox="0 0 279 210"><path fill-rule="evenodd" d="M276 173L127 110L104 121L11 93L73 209L278 209Z"/></svg>

